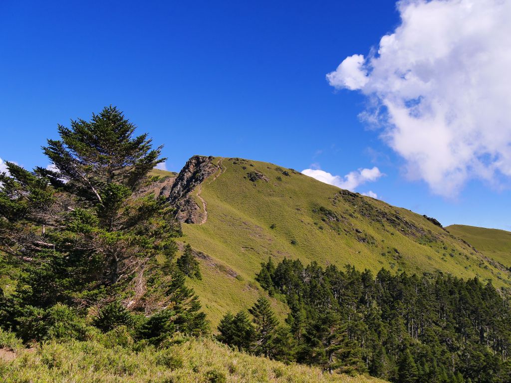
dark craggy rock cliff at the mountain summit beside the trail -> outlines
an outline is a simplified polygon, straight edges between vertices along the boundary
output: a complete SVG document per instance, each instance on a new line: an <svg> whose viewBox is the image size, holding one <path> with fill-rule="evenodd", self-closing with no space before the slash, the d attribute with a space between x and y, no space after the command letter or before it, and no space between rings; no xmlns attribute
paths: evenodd
<svg viewBox="0 0 511 383"><path fill-rule="evenodd" d="M206 202L200 197L200 187L207 177L219 170L219 167L212 163L213 158L193 156L179 172L170 191L165 190L165 193L168 193L167 200L176 208L176 218L179 221L191 224L202 224L206 221ZM161 191L164 192L163 189Z"/></svg>

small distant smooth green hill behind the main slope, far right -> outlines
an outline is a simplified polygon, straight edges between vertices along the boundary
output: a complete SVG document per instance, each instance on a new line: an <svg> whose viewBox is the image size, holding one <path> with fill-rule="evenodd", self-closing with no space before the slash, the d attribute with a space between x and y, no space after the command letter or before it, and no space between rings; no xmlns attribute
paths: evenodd
<svg viewBox="0 0 511 383"><path fill-rule="evenodd" d="M467 225L451 225L447 230L482 251L484 255L511 267L511 232Z"/></svg>

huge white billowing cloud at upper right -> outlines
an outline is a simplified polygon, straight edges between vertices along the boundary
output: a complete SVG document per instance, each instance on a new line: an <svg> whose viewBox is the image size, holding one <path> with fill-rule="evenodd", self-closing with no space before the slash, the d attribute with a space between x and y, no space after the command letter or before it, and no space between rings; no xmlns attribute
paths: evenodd
<svg viewBox="0 0 511 383"><path fill-rule="evenodd" d="M455 196L471 178L511 177L511 2L402 0L377 52L327 75L370 99L364 113L407 174ZM369 113L370 112L370 113ZM372 114L371 114L372 113Z"/></svg>

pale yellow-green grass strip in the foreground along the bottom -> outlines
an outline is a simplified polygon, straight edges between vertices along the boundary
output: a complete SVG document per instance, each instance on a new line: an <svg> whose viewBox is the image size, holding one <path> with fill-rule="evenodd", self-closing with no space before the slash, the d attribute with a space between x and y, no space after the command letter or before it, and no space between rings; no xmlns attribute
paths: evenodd
<svg viewBox="0 0 511 383"><path fill-rule="evenodd" d="M165 349L104 341L51 341L0 359L3 382L339 382L377 383L366 376L322 374L317 368L285 365L229 349L210 339L188 340Z"/></svg>

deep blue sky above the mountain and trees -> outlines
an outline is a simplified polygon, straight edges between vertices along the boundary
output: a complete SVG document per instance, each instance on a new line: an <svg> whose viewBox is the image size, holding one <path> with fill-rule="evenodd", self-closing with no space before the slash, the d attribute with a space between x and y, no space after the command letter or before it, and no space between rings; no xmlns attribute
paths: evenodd
<svg viewBox="0 0 511 383"><path fill-rule="evenodd" d="M445 225L511 229L505 171L439 192L445 180L410 177L410 158L382 139L385 127L360 118L374 104L373 79L347 86L343 67L340 82L327 81L400 26L396 2L72 3L0 4L3 160L47 165L40 147L58 123L112 104L165 144L169 170L194 154L341 179L376 166L384 175L357 192Z"/></svg>

